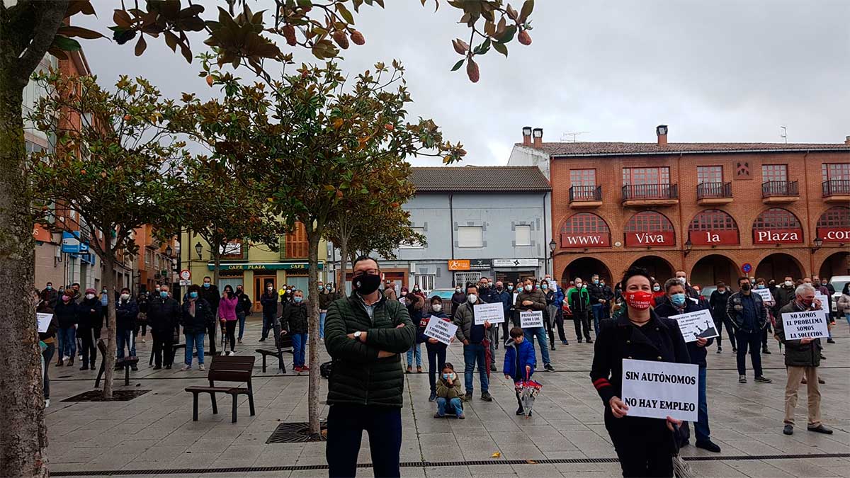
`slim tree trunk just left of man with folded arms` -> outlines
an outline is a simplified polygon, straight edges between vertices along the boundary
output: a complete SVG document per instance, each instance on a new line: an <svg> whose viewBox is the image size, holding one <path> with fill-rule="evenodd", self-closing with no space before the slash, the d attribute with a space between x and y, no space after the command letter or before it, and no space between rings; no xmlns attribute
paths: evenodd
<svg viewBox="0 0 850 478"><path fill-rule="evenodd" d="M306 226L306 225L305 225ZM309 417L310 435L319 435L321 425L319 423L319 239L320 231L314 227L307 227L307 241L309 242L309 346L310 346L310 373L309 389L307 392L307 413Z"/></svg>

